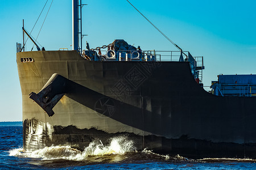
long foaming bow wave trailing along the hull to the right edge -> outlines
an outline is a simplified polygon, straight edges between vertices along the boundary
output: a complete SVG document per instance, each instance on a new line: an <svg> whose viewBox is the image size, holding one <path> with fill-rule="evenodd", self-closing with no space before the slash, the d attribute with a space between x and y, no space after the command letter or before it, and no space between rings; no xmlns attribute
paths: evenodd
<svg viewBox="0 0 256 170"><path fill-rule="evenodd" d="M16 148L9 151L9 156L35 158L39 160L69 160L75 162L86 161L89 163L97 162L126 162L155 160L160 162L185 161L185 162L256 162L254 159L231 159L231 158L204 158L187 159L183 156L160 155L147 150L137 151L134 142L125 136L110 139L109 145L102 145L100 140L89 143L84 151L77 150L71 146L50 146L32 152L24 152L23 148Z"/></svg>

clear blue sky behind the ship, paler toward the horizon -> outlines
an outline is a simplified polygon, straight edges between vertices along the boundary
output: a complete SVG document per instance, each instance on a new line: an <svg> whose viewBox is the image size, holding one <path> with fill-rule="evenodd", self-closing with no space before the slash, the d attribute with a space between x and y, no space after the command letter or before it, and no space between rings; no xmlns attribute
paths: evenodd
<svg viewBox="0 0 256 170"><path fill-rule="evenodd" d="M38 35L52 0L36 24ZM126 0L84 0L83 41L90 48L115 39L143 50L176 50ZM218 74L256 74L256 1L130 0L183 50L204 56L203 83L210 86ZM0 121L22 121L22 95L16 67L16 42L22 42L22 19L31 31L46 0L0 1ZM46 50L71 49L72 1L54 0L38 37ZM26 50L31 50L28 40ZM85 46L84 46L85 48ZM35 50L35 49L34 49ZM209 88L206 88L210 90Z"/></svg>

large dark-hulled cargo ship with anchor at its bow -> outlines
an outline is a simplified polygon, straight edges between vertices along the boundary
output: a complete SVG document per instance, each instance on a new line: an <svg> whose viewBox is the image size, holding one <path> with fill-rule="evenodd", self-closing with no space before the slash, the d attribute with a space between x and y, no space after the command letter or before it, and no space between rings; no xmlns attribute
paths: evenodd
<svg viewBox="0 0 256 170"><path fill-rule="evenodd" d="M82 50L80 7L73 0L73 50L40 49L32 38L38 51L17 44L25 151L83 150L125 135L138 151L256 158L255 75L218 75L207 92L203 57L189 52L125 40Z"/></svg>

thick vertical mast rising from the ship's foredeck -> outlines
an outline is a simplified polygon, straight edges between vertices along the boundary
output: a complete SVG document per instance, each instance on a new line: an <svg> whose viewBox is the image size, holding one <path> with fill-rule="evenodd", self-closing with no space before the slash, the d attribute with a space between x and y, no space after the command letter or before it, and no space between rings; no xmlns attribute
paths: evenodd
<svg viewBox="0 0 256 170"><path fill-rule="evenodd" d="M72 30L73 30L73 35L72 35L72 49L73 50L78 50L79 49L79 11L78 11L78 6L79 6L79 0L72 0Z"/></svg>

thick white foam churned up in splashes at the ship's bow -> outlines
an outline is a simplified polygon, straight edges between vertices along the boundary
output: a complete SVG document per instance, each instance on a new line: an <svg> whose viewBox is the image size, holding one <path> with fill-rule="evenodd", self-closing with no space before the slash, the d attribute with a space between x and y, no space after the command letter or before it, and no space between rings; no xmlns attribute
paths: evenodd
<svg viewBox="0 0 256 170"><path fill-rule="evenodd" d="M28 158L38 158L42 160L66 159L66 160L86 160L88 156L100 156L118 154L123 155L126 152L134 152L136 148L133 141L127 137L115 137L111 139L109 145L101 145L100 140L93 141L84 151L76 150L71 146L51 146L44 147L32 152L23 152L22 148L9 151L10 156L22 156Z"/></svg>

